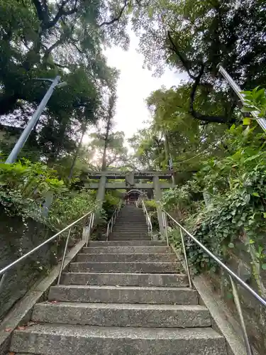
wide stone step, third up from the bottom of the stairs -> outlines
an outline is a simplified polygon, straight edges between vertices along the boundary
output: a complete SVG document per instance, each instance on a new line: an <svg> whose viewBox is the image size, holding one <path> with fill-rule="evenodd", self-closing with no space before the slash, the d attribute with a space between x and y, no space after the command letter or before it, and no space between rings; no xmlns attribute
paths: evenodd
<svg viewBox="0 0 266 355"><path fill-rule="evenodd" d="M48 299L62 302L198 304L197 293L190 288L110 285L55 285L50 288Z"/></svg>

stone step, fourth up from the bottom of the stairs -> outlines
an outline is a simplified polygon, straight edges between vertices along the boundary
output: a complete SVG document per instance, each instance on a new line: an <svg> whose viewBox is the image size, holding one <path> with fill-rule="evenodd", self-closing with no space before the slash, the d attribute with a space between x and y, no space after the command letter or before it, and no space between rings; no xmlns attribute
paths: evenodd
<svg viewBox="0 0 266 355"><path fill-rule="evenodd" d="M63 273L63 285L113 285L187 287L183 273Z"/></svg>

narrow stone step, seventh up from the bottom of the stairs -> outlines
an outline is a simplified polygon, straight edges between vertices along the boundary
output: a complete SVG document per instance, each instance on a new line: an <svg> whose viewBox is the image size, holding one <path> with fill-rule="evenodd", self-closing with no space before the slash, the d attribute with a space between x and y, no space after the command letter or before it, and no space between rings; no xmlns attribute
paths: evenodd
<svg viewBox="0 0 266 355"><path fill-rule="evenodd" d="M82 249L82 253L85 254L171 253L171 251L169 246L89 246Z"/></svg>

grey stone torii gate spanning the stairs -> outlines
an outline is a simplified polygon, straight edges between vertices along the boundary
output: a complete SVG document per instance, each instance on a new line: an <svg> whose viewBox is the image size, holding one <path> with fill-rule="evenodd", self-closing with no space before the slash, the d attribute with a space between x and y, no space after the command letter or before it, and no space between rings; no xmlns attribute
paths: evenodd
<svg viewBox="0 0 266 355"><path fill-rule="evenodd" d="M89 182L85 187L90 190L97 190L96 200L99 204L104 201L106 190L153 190L153 196L156 201L162 198L162 190L173 187L172 171L140 171L133 173L122 173L121 171L94 171L88 173L90 179L99 180L99 182ZM123 182L109 182L109 180L120 179ZM171 180L171 182L161 182ZM148 180L148 182L135 182L135 180ZM164 233L162 220L162 209L157 207L157 218L160 226L160 232Z"/></svg>

